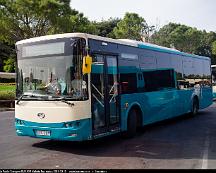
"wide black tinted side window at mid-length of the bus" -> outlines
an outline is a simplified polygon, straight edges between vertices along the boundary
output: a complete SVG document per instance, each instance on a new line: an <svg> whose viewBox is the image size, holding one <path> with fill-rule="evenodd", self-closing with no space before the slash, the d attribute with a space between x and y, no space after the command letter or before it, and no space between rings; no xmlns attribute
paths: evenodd
<svg viewBox="0 0 216 173"><path fill-rule="evenodd" d="M143 72L145 91L158 91L165 88L175 88L173 70L156 70Z"/></svg>

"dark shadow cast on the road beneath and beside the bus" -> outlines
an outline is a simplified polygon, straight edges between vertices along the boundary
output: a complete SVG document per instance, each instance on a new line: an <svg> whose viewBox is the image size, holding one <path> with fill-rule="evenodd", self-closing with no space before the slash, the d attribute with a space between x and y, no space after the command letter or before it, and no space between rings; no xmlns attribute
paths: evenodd
<svg viewBox="0 0 216 173"><path fill-rule="evenodd" d="M149 159L199 159L206 133L216 134L214 112L201 111L140 129L136 137L120 134L85 142L44 141L33 147L95 157L145 157ZM211 129L211 131L209 131ZM216 159L215 156L211 156Z"/></svg>

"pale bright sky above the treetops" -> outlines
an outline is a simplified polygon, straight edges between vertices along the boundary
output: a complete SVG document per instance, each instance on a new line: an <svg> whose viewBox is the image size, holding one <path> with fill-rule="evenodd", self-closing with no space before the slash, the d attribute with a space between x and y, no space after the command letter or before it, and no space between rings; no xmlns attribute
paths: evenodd
<svg viewBox="0 0 216 173"><path fill-rule="evenodd" d="M71 7L92 21L134 12L157 28L175 22L216 31L216 0L71 0Z"/></svg>

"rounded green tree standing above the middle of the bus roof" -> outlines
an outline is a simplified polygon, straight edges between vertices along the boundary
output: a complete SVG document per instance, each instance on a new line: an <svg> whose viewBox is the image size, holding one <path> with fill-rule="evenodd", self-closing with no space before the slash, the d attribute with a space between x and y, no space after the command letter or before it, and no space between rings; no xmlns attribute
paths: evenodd
<svg viewBox="0 0 216 173"><path fill-rule="evenodd" d="M124 18L117 23L113 33L116 38L143 40L148 31L148 25L144 18L136 13L126 13Z"/></svg>

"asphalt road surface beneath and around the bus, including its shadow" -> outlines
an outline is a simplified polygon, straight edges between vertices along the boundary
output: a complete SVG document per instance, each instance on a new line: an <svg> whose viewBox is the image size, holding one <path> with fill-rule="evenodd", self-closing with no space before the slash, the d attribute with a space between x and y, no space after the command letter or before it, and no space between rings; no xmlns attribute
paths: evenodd
<svg viewBox="0 0 216 173"><path fill-rule="evenodd" d="M216 104L193 118L146 127L133 139L91 142L18 137L14 112L0 112L0 168L216 169Z"/></svg>

